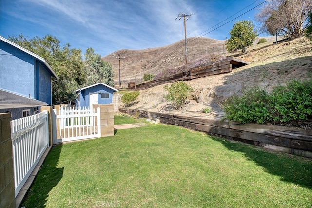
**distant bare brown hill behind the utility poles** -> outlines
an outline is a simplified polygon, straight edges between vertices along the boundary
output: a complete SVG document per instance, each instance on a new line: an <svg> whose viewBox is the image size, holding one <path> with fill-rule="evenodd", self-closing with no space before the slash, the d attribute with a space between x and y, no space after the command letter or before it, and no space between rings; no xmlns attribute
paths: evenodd
<svg viewBox="0 0 312 208"><path fill-rule="evenodd" d="M258 37L255 42L262 37ZM275 41L275 37L265 37L268 42ZM279 38L280 39L280 38ZM208 53L218 53L228 55L224 46L225 41L215 40L211 38L188 38L187 48L189 60L196 60ZM136 83L142 82L144 74L158 74L165 68L174 68L185 62L185 44L184 40L178 41L171 45L148 48L142 50L122 49L115 51L102 59L112 64L114 71L115 85L119 84L119 60L120 53L120 69L121 83L126 85L130 81L136 79Z"/></svg>

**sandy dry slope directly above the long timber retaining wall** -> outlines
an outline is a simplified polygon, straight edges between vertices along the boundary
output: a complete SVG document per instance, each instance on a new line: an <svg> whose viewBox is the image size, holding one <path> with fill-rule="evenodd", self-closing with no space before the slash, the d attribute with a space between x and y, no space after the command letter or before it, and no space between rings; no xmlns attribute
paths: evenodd
<svg viewBox="0 0 312 208"><path fill-rule="evenodd" d="M220 102L234 94L240 94L244 86L260 85L270 90L293 78L302 80L312 77L312 44L306 38L277 45L267 43L238 58L252 59L252 62L230 73L186 81L194 88L194 92L184 110L196 111L209 106L214 114L223 115ZM163 98L163 87L164 85L158 85L140 90L139 102L133 108L174 111L168 108L169 103Z"/></svg>

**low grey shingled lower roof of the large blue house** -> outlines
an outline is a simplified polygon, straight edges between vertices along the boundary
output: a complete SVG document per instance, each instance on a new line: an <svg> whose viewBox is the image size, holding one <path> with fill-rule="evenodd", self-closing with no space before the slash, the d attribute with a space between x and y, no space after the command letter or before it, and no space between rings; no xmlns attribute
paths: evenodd
<svg viewBox="0 0 312 208"><path fill-rule="evenodd" d="M0 89L0 109L46 106L47 103Z"/></svg>

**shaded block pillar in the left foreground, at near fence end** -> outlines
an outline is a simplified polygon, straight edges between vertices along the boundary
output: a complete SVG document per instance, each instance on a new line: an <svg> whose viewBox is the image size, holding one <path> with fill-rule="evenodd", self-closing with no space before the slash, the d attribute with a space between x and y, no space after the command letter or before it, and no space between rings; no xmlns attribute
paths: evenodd
<svg viewBox="0 0 312 208"><path fill-rule="evenodd" d="M15 208L10 113L0 113L0 132L0 207Z"/></svg>

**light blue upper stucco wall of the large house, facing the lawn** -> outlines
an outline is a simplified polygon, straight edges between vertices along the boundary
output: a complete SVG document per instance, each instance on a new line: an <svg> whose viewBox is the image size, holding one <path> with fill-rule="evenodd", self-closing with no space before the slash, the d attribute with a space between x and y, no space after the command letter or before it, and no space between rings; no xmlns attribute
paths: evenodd
<svg viewBox="0 0 312 208"><path fill-rule="evenodd" d="M35 98L34 57L3 41L0 54L0 88Z"/></svg>

